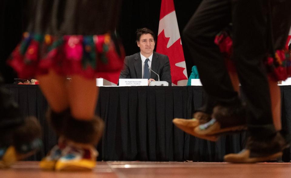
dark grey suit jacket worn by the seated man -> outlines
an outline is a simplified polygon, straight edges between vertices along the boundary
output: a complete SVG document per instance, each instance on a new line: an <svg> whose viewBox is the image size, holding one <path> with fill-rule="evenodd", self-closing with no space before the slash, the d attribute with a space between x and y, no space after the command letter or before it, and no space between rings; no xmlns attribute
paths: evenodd
<svg viewBox="0 0 291 178"><path fill-rule="evenodd" d="M160 81L166 81L172 86L169 58L156 52L152 54L151 69L160 76ZM151 79L158 81L158 76L151 71ZM140 52L126 56L119 79L142 79L142 59Z"/></svg>

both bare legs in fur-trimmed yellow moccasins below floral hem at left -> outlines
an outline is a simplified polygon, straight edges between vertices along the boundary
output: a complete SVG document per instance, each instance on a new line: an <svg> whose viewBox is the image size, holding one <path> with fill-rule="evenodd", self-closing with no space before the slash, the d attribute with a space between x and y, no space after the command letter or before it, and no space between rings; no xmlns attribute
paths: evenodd
<svg viewBox="0 0 291 178"><path fill-rule="evenodd" d="M48 76L41 76L39 79L43 84L43 92L52 109L59 109L61 112L60 114L54 114L57 118L52 116L51 120L61 128L59 130L63 137L60 138L65 138L65 143L60 142L59 145L55 146L51 153L41 161L40 166L43 169L55 170L92 170L95 167L97 156L94 145L98 143L102 136L103 129L102 120L95 116L95 105L98 96L95 79L85 79L81 76L73 75L72 81L68 82L54 72L50 72ZM56 81L56 86L58 87L52 88L50 86L51 83L56 83ZM62 112L61 107L62 109L69 107L71 113ZM67 154L74 155L76 154L75 152L59 155L59 150L62 151L63 149L62 144L65 144L66 147L70 146L80 150L82 161L66 159L65 156ZM85 156L85 153L88 152L90 152L89 158ZM76 157L78 156L80 155L76 155Z"/></svg>

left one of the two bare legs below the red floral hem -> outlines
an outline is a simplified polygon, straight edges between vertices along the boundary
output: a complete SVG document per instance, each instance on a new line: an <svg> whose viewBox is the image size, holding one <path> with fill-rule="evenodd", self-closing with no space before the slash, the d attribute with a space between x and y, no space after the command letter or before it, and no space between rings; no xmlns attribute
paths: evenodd
<svg viewBox="0 0 291 178"><path fill-rule="evenodd" d="M57 74L54 70L49 70L46 75L36 76L39 86L49 103L50 109L48 120L58 136L59 143L54 146L48 155L40 162L42 169L52 170L56 161L60 158L62 150L65 148L63 134L65 122L69 117L69 100L67 92L67 80L65 76Z"/></svg>

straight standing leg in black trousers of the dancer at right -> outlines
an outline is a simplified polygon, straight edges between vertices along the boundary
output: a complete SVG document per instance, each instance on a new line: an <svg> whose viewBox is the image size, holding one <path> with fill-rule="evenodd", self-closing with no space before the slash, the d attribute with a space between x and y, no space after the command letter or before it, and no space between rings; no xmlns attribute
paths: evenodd
<svg viewBox="0 0 291 178"><path fill-rule="evenodd" d="M252 4L233 1L233 60L249 109L248 129L256 136L273 136L271 99L266 71L262 61L266 57L267 1ZM244 14L248 9L250 13ZM249 18L251 17L251 18ZM254 40L256 39L256 40Z"/></svg>

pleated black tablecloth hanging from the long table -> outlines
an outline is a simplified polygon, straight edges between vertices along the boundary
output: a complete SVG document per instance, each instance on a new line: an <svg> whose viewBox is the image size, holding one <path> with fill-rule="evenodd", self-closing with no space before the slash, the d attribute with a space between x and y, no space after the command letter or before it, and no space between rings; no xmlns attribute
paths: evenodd
<svg viewBox="0 0 291 178"><path fill-rule="evenodd" d="M30 160L40 160L57 143L45 120L47 102L38 86L6 84L25 115L36 116L43 126L44 149ZM291 86L280 86L282 125L291 131ZM100 87L96 113L105 120L99 160L222 161L245 145L245 133L221 136L210 142L185 134L173 118L191 118L202 105L201 86ZM279 96L278 96L279 97ZM283 155L290 160L290 149Z"/></svg>

